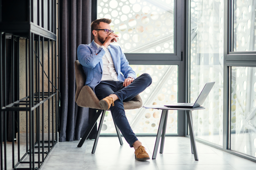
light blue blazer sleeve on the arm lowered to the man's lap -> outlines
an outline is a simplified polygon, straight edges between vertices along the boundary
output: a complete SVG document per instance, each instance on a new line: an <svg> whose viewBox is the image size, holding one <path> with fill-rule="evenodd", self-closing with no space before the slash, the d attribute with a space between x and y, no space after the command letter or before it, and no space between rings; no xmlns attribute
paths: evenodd
<svg viewBox="0 0 256 170"><path fill-rule="evenodd" d="M124 77L127 78L129 76L134 77L134 79L136 78L136 73L135 71L132 70L132 67L129 65L128 60L126 60L126 57L123 53L123 51L121 50L121 47L119 46L120 51L121 51L121 72L123 73Z"/></svg>

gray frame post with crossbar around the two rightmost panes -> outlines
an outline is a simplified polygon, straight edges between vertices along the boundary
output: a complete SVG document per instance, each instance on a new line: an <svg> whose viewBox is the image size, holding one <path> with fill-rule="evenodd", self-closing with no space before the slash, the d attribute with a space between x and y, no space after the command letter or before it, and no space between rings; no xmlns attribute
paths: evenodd
<svg viewBox="0 0 256 170"><path fill-rule="evenodd" d="M238 51L233 49L234 0L225 1L224 14L224 115L223 150L236 156L256 162L256 158L231 150L231 67L256 67L256 51Z"/></svg>

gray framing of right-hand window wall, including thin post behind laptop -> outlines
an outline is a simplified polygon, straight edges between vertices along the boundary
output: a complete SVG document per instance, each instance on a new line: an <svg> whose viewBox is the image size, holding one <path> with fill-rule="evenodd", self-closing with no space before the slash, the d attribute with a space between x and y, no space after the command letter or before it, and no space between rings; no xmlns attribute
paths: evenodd
<svg viewBox="0 0 256 170"><path fill-rule="evenodd" d="M199 141L203 144L212 146L214 148L223 150L225 152L234 154L236 156L249 159L251 161L256 162L256 158L243 154L241 152L236 152L234 150L231 150L231 67L256 67L256 51L233 51L233 15L234 15L234 1L235 0L227 0L223 1L224 3L224 55L223 55L223 77L224 77L224 84L223 84L223 145L219 146L216 144L213 144L211 142L205 141L200 138L196 138L196 141ZM186 1L186 13L185 13L185 30L186 30L186 49L187 52L185 53L186 58L186 67L185 67L185 74L188 75L185 79L186 86L190 87L190 79L189 79L189 71L190 71L190 61L189 61L189 55L190 52L188 49L190 49L190 0ZM186 88L186 100L189 98L189 88ZM185 115L184 117L184 136L189 136L188 131L188 123L187 123L187 117Z"/></svg>

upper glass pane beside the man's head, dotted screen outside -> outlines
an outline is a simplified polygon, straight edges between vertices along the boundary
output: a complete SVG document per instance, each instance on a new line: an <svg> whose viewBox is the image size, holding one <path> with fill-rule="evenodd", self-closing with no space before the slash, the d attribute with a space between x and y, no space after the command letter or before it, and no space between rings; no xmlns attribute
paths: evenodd
<svg viewBox="0 0 256 170"><path fill-rule="evenodd" d="M174 0L98 0L124 53L174 53Z"/></svg>

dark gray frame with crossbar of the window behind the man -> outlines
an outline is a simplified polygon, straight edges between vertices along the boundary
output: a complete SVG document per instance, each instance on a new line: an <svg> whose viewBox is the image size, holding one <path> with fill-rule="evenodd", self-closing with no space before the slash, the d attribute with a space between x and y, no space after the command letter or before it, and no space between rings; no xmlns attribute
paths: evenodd
<svg viewBox="0 0 256 170"><path fill-rule="evenodd" d="M179 11L179 12L177 12ZM185 89L185 28L184 28L185 2L174 0L174 53L124 53L130 65L177 65L178 66L178 102L184 103L187 95ZM177 29L179 28L179 29ZM184 90L185 89L185 90ZM178 111L177 134L166 136L184 136L184 111ZM102 134L101 136L109 136ZM111 135L116 136L116 135ZM137 136L156 136L156 134L140 134Z"/></svg>

